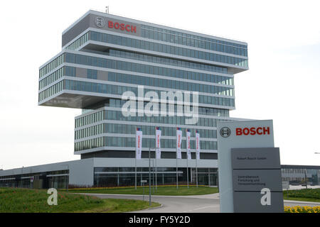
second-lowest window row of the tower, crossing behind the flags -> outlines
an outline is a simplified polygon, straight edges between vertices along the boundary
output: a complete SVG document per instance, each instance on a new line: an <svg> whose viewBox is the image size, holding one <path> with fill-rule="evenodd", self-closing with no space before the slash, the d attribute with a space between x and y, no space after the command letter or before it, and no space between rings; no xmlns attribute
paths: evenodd
<svg viewBox="0 0 320 227"><path fill-rule="evenodd" d="M139 126L144 135L156 135L156 129L154 126ZM102 133L119 133L119 134L135 134L137 131L137 125L127 124L115 124L115 123L103 123L97 126L91 126L88 128L82 128L75 131L75 140L90 137L93 135L99 135ZM196 129L191 128L191 135L196 135ZM198 130L202 138L217 138L216 130L199 129ZM186 136L186 132L183 129L183 136ZM162 135L175 136L176 127L161 127Z"/></svg>

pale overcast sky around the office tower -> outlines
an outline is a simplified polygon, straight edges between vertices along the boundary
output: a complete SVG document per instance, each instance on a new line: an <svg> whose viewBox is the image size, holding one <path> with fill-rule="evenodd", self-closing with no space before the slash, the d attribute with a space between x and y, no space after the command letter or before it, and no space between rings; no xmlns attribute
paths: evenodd
<svg viewBox="0 0 320 227"><path fill-rule="evenodd" d="M320 165L319 1L1 1L0 169L80 159L80 109L38 106L38 67L89 9L248 43L239 118L273 119L284 165Z"/></svg>

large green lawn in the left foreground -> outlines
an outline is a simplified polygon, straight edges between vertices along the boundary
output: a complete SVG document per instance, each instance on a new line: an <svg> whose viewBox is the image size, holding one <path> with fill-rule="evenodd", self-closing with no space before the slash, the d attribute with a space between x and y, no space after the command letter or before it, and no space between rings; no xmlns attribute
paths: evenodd
<svg viewBox="0 0 320 227"><path fill-rule="evenodd" d="M93 196L83 196L58 192L58 205L49 206L46 189L0 189L0 213L69 213L69 212L107 212L120 213L149 208L149 201L134 199L98 199ZM159 206L152 203L151 206Z"/></svg>

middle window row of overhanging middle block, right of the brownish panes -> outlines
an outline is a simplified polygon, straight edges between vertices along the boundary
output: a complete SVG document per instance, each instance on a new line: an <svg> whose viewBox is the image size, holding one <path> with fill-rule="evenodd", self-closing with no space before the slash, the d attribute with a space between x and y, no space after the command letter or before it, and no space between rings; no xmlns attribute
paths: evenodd
<svg viewBox="0 0 320 227"><path fill-rule="evenodd" d="M184 82L183 80L159 79L153 77L142 77L122 73L109 72L108 81L126 84L138 84L151 87L164 87L169 89L186 90L192 92L204 92L224 96L234 96L234 89L231 87L220 87L207 84L196 84Z"/></svg>

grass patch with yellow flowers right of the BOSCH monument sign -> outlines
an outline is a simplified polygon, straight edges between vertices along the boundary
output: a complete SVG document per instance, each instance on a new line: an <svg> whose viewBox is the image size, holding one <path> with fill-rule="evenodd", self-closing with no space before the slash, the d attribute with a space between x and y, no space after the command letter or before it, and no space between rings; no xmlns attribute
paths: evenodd
<svg viewBox="0 0 320 227"><path fill-rule="evenodd" d="M320 202L320 189L300 189L284 191L283 199Z"/></svg>

